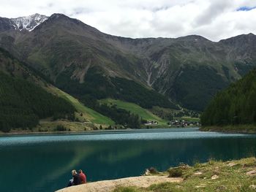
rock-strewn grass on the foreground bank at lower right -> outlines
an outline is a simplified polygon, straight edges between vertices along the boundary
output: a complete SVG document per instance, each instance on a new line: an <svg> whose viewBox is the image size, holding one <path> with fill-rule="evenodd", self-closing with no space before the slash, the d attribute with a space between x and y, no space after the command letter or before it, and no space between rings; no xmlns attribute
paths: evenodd
<svg viewBox="0 0 256 192"><path fill-rule="evenodd" d="M177 168L172 168L177 169ZM116 192L124 191L227 191L251 192L255 191L256 175L247 175L246 172L256 170L256 158L244 158L236 161L214 161L194 166L181 166L184 181L181 183L160 183L148 188L118 187ZM170 169L169 169L170 170ZM213 176L217 175L216 179Z"/></svg>

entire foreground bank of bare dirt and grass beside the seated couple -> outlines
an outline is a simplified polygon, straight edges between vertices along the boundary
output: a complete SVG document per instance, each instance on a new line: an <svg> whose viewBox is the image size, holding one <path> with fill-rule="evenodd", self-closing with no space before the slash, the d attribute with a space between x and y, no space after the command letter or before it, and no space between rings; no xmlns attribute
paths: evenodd
<svg viewBox="0 0 256 192"><path fill-rule="evenodd" d="M169 173L169 174L168 174ZM253 191L256 189L256 158L170 167L148 176L102 180L62 188L56 192L158 192L158 191Z"/></svg>

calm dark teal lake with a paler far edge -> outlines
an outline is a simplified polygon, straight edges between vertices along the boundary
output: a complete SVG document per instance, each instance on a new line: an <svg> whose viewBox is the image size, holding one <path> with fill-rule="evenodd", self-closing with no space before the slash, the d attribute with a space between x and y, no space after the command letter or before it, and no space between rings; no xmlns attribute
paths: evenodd
<svg viewBox="0 0 256 192"><path fill-rule="evenodd" d="M55 191L72 169L89 181L138 176L146 168L165 171L180 162L229 160L256 154L256 134L169 128L0 137L1 191Z"/></svg>

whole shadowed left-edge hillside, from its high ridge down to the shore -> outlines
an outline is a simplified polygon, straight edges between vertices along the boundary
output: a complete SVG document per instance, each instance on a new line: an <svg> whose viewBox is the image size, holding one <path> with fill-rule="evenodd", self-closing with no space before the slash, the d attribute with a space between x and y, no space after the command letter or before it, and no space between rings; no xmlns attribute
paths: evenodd
<svg viewBox="0 0 256 192"><path fill-rule="evenodd" d="M0 49L0 131L33 128L42 118L74 116L75 107L45 91L45 84L22 62Z"/></svg>

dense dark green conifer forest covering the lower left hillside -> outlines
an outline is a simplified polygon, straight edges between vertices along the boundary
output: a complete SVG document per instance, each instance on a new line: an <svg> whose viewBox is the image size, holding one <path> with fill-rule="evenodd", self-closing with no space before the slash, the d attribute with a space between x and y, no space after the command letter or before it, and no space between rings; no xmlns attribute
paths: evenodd
<svg viewBox="0 0 256 192"><path fill-rule="evenodd" d="M0 131L32 128L40 118L69 118L75 108L69 102L31 82L0 72Z"/></svg>

